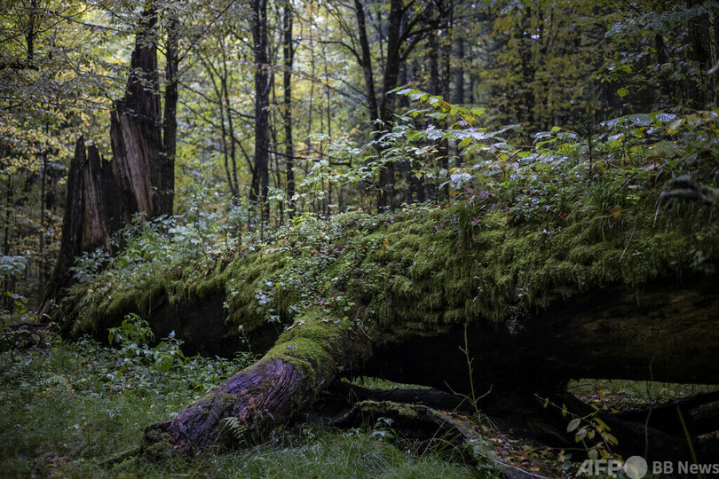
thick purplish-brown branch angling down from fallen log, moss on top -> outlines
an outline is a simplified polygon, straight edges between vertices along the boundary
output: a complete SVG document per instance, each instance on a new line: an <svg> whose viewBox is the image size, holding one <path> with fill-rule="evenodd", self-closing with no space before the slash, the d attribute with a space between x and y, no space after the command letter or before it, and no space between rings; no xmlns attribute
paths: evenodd
<svg viewBox="0 0 719 479"><path fill-rule="evenodd" d="M282 334L255 365L175 418L146 428L143 454L150 459L172 452L193 455L238 434L262 436L312 405L340 371L362 357L367 343L320 315L311 313L304 321Z"/></svg>

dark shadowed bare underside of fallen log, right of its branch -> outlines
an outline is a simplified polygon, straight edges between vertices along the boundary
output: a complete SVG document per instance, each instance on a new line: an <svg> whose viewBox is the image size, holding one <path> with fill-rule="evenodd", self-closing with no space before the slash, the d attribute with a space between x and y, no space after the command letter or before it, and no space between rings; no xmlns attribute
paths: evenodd
<svg viewBox="0 0 719 479"><path fill-rule="evenodd" d="M363 373L470 394L465 329L375 345ZM711 278L598 290L556 302L512 334L466 329L477 392L553 393L575 378L719 384L719 294ZM491 398L490 395L488 398Z"/></svg>

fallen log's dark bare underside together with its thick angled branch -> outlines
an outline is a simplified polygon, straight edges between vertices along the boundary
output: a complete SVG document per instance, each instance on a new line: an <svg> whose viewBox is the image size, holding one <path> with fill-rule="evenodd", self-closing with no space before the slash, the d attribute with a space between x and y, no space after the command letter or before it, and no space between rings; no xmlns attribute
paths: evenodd
<svg viewBox="0 0 719 479"><path fill-rule="evenodd" d="M480 404L495 410L511 409L508 398L519 394L556 395L571 378L719 383L719 294L707 279L587 294L537 312L517 333L478 322L383 344L369 340L391 336L381 329L352 334L319 313L305 320L256 365L146 428L146 455L195 454L231 439L230 430L262 435L296 418L340 373L468 397L491 390Z"/></svg>

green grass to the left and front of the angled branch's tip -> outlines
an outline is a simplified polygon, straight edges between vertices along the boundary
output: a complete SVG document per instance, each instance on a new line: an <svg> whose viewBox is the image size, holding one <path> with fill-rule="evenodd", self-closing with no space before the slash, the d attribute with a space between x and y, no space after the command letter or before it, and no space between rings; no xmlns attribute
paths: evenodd
<svg viewBox="0 0 719 479"><path fill-rule="evenodd" d="M472 477L478 469L391 442L377 430L277 430L265 444L214 449L191 462L107 465L248 357L189 358L161 372L84 340L0 355L0 470L7 477Z"/></svg>

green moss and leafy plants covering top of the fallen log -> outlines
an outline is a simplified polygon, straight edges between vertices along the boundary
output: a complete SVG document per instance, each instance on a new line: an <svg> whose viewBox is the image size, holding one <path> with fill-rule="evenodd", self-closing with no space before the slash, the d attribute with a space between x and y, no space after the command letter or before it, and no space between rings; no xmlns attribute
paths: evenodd
<svg viewBox="0 0 719 479"><path fill-rule="evenodd" d="M441 98L399 93L435 106L410 116L439 111L477 121ZM296 216L245 234L217 213L204 222L138 222L106 269L95 271L97 253L78 263L75 331L91 332L128 310L142 314L159 294L170 302L222 294L228 323L246 333L266 322L291 329L321 310L339 327L381 331L378 341L391 342L406 331L431 334L476 320L520 326L527 311L595 287L712 274L714 205L662 193L690 173L697 188L715 188L707 159L719 149L708 139L717 118L622 117L594 140L597 157L558 128L528 147L486 129L452 127L439 131L458 141L465 161L449 173L445 205ZM437 131L405 129L401 141Z"/></svg>

